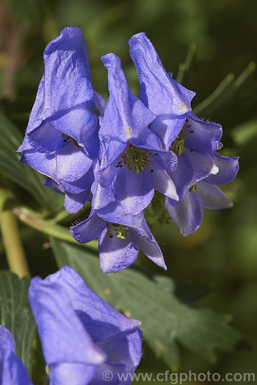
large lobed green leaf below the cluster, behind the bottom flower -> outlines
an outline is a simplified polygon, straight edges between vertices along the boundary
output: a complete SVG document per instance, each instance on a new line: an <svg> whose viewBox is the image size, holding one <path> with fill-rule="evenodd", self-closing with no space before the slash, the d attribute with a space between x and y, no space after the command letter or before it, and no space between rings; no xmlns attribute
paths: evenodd
<svg viewBox="0 0 257 385"><path fill-rule="evenodd" d="M51 240L58 266L74 268L86 284L128 317L142 320L143 337L169 367L179 367L178 342L207 360L216 360L215 349L231 352L241 335L228 318L207 309L195 309L174 296L171 278L147 277L135 268L103 274L99 258L84 249Z"/></svg>

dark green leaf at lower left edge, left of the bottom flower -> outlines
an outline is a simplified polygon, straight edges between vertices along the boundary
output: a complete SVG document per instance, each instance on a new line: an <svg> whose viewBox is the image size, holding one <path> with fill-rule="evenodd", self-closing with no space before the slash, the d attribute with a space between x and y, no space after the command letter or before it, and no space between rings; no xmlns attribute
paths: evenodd
<svg viewBox="0 0 257 385"><path fill-rule="evenodd" d="M16 342L16 354L30 373L35 321L28 301L28 277L19 279L11 272L0 273L1 324L9 329Z"/></svg>

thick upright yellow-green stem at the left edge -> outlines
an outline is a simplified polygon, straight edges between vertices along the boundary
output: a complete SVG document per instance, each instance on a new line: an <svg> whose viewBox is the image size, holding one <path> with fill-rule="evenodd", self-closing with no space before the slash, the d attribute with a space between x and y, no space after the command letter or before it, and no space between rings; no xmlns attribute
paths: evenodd
<svg viewBox="0 0 257 385"><path fill-rule="evenodd" d="M20 278L30 275L13 211L8 207L11 194L0 189L0 229L10 271Z"/></svg>

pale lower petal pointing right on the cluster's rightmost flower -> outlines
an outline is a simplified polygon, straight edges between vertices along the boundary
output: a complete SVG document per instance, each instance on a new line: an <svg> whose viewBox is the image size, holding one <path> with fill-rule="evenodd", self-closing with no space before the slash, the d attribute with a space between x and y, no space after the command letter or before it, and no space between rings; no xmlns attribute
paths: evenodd
<svg viewBox="0 0 257 385"><path fill-rule="evenodd" d="M201 205L205 208L219 209L233 206L233 203L230 202L224 192L213 184L200 181L197 183L195 191Z"/></svg>

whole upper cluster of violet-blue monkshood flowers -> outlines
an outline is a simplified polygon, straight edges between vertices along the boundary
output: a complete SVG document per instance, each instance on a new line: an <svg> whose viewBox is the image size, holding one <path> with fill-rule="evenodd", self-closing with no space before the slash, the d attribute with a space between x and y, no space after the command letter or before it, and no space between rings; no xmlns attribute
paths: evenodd
<svg viewBox="0 0 257 385"><path fill-rule="evenodd" d="M222 127L191 110L193 91L167 72L142 32L128 42L138 72L138 99L119 57L101 57L107 103L94 91L82 32L65 28L44 51L45 73L30 114L21 160L65 194L70 213L91 202L87 220L71 227L79 242L98 237L103 272L118 272L138 249L166 268L143 210L157 190L182 235L200 226L203 209L230 207L216 184L235 178L236 157L217 152Z"/></svg>

